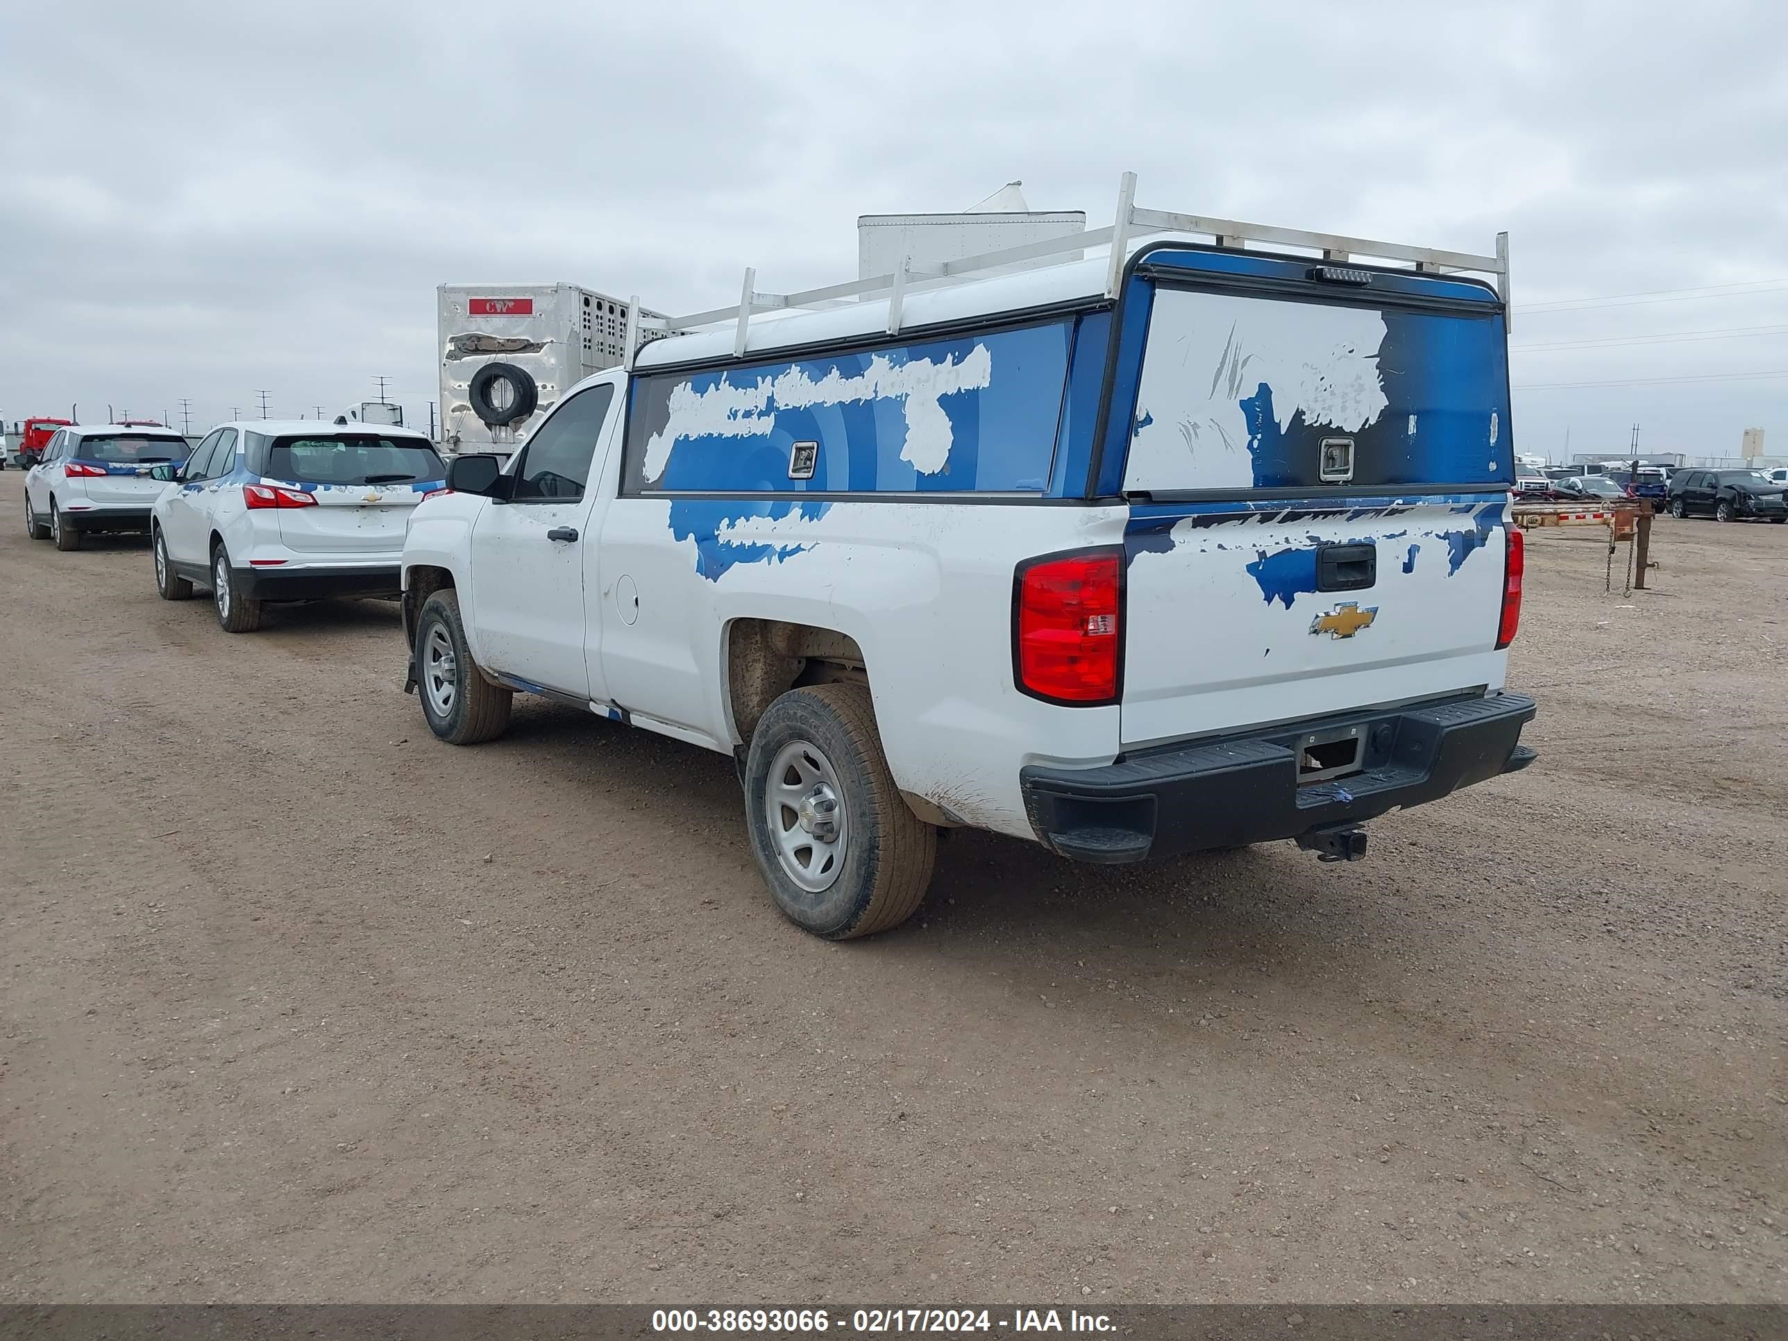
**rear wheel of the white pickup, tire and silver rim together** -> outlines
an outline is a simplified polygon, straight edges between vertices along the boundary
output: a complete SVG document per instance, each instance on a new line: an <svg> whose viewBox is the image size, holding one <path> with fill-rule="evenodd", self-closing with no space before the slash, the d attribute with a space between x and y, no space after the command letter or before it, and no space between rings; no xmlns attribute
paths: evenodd
<svg viewBox="0 0 1788 1341"><path fill-rule="evenodd" d="M937 830L901 799L862 685L769 706L746 762L746 828L776 907L828 940L899 926L932 883Z"/></svg>

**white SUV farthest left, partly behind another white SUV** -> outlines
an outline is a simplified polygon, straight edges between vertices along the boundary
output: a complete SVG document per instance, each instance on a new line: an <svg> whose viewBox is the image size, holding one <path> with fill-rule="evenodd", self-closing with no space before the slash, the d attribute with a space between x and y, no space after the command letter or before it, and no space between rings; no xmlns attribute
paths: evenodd
<svg viewBox="0 0 1788 1341"><path fill-rule="evenodd" d="M25 535L80 549L91 531L147 531L156 467L184 461L186 438L120 424L64 426L25 472Z"/></svg>

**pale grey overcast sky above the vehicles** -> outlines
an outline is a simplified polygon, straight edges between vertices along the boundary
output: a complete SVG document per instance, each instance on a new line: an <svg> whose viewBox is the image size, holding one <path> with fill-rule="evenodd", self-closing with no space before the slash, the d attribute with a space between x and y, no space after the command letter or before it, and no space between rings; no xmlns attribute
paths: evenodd
<svg viewBox="0 0 1788 1341"><path fill-rule="evenodd" d="M1788 5L5 9L7 422L190 397L202 427L263 388L334 413L388 374L426 424L440 283L688 311L746 265L855 277L856 215L1010 179L1100 227L1130 168L1162 209L1473 252L1507 229L1523 451L1640 422L1736 454L1756 424L1788 456L1788 375L1731 377L1788 372ZM1522 309L1607 295L1643 300ZM1534 347L1640 336L1672 338ZM1690 377L1720 381L1661 381Z"/></svg>

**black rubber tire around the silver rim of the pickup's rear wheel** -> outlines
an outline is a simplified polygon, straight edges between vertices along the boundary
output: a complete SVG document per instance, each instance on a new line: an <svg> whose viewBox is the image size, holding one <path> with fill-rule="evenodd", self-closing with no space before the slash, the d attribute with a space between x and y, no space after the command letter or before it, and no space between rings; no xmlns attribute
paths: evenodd
<svg viewBox="0 0 1788 1341"><path fill-rule="evenodd" d="M817 749L830 763L837 799L828 801L828 814L844 821L844 853L831 883L819 890L805 889L785 871L767 806L772 767L785 751L803 746ZM781 810L796 814L789 806ZM781 833L797 831L794 821L780 822ZM769 706L751 735L746 762L746 830L776 907L801 930L828 940L899 926L932 883L937 830L912 814L894 787L874 706L862 685L796 688ZM821 860L817 849L808 860Z"/></svg>

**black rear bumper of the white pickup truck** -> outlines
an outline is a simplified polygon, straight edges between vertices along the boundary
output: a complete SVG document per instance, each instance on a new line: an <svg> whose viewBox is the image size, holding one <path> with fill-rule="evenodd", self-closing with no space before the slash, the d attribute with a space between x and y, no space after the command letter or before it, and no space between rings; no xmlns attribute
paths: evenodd
<svg viewBox="0 0 1788 1341"><path fill-rule="evenodd" d="M1536 755L1520 738L1532 717L1534 701L1522 694L1448 699L1150 751L1101 769L1032 765L1019 781L1032 828L1051 851L1141 862L1346 828L1525 769ZM1354 726L1364 769L1298 785L1302 737Z"/></svg>

